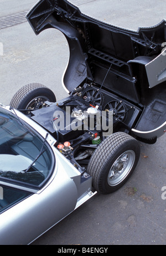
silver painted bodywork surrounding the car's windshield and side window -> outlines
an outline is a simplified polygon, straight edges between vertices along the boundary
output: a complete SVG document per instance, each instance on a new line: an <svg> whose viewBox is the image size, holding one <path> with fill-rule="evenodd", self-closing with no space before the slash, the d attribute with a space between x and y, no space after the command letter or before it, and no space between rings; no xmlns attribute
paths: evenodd
<svg viewBox="0 0 166 256"><path fill-rule="evenodd" d="M17 114L45 136L46 131L42 127L21 112L17 111ZM0 244L33 242L96 193L91 192L91 178L81 185L81 173L55 149L55 139L49 135L47 141L54 152L56 165L50 180L41 190L33 191L0 182L0 185L33 192L0 214Z"/></svg>

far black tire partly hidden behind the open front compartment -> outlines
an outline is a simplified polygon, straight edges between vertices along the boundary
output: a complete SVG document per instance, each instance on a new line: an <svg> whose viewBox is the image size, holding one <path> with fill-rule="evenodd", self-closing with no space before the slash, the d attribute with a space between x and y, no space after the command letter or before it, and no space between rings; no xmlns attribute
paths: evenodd
<svg viewBox="0 0 166 256"><path fill-rule="evenodd" d="M40 109L44 101L56 102L56 97L49 88L42 84L32 83L20 88L13 96L10 106L14 109Z"/></svg>

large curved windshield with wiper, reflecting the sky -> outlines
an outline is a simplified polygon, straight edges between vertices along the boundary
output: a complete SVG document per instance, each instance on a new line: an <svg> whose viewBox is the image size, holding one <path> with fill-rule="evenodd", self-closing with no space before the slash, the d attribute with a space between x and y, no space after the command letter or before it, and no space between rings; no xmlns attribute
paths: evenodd
<svg viewBox="0 0 166 256"><path fill-rule="evenodd" d="M53 155L37 132L0 109L0 180L42 186L53 169Z"/></svg>

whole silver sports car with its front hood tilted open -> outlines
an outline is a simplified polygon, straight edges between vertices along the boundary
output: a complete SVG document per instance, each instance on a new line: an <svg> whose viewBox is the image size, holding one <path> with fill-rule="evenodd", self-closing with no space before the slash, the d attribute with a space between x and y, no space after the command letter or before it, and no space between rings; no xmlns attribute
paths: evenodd
<svg viewBox="0 0 166 256"><path fill-rule="evenodd" d="M68 40L69 96L32 83L0 105L0 244L30 244L116 191L137 166L138 141L166 131L165 21L134 32L67 0L40 0L27 19L36 34L55 28Z"/></svg>

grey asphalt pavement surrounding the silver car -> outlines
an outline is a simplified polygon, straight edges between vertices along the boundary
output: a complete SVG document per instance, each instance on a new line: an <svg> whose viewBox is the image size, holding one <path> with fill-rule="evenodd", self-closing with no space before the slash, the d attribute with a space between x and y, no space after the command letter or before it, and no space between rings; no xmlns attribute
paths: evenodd
<svg viewBox="0 0 166 256"><path fill-rule="evenodd" d="M27 11L35 2L0 0L0 28L2 19L9 14L14 19L15 13ZM134 30L166 18L162 0L71 2L86 14ZM69 49L60 32L50 29L37 37L29 24L23 22L0 29L0 42L3 44L0 102L9 104L20 86L32 82L49 86L58 99L67 95L60 86ZM166 201L162 199L162 187L166 186L165 144L166 136L155 145L141 143L140 161L125 186L108 196L96 194L33 244L165 244Z"/></svg>

